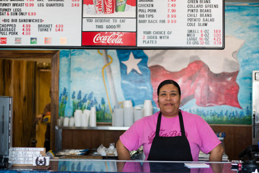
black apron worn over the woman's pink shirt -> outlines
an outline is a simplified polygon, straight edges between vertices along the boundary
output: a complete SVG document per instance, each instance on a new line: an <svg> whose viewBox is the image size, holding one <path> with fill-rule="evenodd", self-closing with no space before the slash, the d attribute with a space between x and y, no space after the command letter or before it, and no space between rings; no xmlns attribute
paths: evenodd
<svg viewBox="0 0 259 173"><path fill-rule="evenodd" d="M161 112L157 119L157 129L151 144L147 160L159 161L193 161L190 144L185 136L182 113L179 111L179 121L182 136L164 137L159 136L161 124Z"/></svg>

